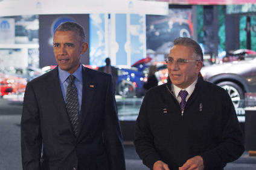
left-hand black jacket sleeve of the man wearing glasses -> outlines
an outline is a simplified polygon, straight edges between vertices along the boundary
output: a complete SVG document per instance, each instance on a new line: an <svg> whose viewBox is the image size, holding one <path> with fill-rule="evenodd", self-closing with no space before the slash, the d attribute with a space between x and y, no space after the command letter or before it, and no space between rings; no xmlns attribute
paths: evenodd
<svg viewBox="0 0 256 170"><path fill-rule="evenodd" d="M149 93L146 93L146 96L143 99L141 109L139 110L139 115L136 120L135 126L135 148L139 157L142 159L143 163L153 169L153 165L156 161L161 160L161 157L156 152L154 144L153 144L153 135L150 131L148 118L147 118L147 109L149 103L147 100L149 99Z"/></svg>

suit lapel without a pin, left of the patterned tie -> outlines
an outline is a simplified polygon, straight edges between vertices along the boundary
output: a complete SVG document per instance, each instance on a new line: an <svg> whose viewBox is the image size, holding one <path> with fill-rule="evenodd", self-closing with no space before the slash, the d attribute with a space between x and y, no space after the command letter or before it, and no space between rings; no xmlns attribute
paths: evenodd
<svg viewBox="0 0 256 170"><path fill-rule="evenodd" d="M53 99L54 105L59 111L58 114L60 114L63 119L66 120L65 123L68 124L69 130L71 130L71 133L73 133L72 125L68 117L68 112L66 112L66 105L62 95L62 89L60 87L58 67L54 68L52 71L52 77L50 81L51 82L48 82L49 88L47 89L50 96L49 99Z"/></svg>

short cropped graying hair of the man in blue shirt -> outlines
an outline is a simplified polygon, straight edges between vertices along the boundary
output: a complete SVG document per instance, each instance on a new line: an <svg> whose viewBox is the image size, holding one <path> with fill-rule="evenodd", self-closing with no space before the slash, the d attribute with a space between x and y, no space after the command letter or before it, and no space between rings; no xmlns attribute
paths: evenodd
<svg viewBox="0 0 256 170"><path fill-rule="evenodd" d="M83 31L83 27L78 23L64 22L56 28L54 35L57 31L74 31L80 37L81 43L85 43L85 31Z"/></svg>

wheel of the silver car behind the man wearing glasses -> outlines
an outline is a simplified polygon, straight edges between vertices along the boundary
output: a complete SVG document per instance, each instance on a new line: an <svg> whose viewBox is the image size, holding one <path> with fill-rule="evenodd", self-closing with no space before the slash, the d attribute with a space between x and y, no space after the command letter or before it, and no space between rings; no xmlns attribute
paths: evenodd
<svg viewBox="0 0 256 170"><path fill-rule="evenodd" d="M235 108L241 108L244 106L245 93L240 86L233 82L220 82L217 83L217 85L228 92Z"/></svg>

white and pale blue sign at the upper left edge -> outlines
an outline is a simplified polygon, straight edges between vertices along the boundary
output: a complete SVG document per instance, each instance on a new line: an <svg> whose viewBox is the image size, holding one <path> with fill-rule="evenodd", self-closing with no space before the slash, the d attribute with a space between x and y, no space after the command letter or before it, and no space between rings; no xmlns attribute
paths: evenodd
<svg viewBox="0 0 256 170"><path fill-rule="evenodd" d="M14 19L0 19L0 44L14 44L15 24Z"/></svg>

